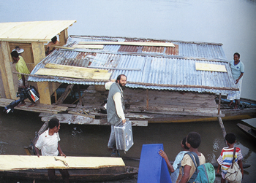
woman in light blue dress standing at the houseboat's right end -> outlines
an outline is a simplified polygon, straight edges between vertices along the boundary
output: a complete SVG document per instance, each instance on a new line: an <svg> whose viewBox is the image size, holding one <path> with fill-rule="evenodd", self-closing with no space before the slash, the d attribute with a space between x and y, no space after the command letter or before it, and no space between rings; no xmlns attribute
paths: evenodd
<svg viewBox="0 0 256 183"><path fill-rule="evenodd" d="M232 77L236 87L239 88L238 91L231 91L227 94L227 100L230 100L230 106L233 104L233 100L236 101L235 108L237 109L238 100L240 100L241 89L242 89L242 79L244 75L244 63L240 61L240 54L238 52L234 53L234 60L230 61L230 69Z"/></svg>

